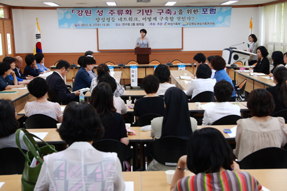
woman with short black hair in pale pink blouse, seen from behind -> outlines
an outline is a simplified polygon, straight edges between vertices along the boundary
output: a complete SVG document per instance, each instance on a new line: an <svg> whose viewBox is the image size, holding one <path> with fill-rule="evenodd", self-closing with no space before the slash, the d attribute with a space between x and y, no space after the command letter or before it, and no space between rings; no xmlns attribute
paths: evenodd
<svg viewBox="0 0 287 191"><path fill-rule="evenodd" d="M49 86L45 79L39 77L31 80L27 85L27 89L32 96L36 97L35 101L28 101L25 105L25 115L27 117L34 114L43 114L59 121L59 123L62 122L63 112L61 112L59 103L47 100Z"/></svg>

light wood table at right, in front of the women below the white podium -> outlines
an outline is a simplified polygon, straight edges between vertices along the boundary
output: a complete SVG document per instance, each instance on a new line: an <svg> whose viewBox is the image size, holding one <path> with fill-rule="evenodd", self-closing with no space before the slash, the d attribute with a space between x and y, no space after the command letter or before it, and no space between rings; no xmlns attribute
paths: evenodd
<svg viewBox="0 0 287 191"><path fill-rule="evenodd" d="M237 80L237 84L240 84L242 81L244 81L245 79L246 81L246 85L245 85L245 91L247 92L251 92L252 90L255 89L266 89L268 87L273 87L276 84L273 82L272 79L270 79L270 77L266 74L262 74L262 73L258 73L260 74L257 77L251 76L250 72L245 72L245 71L234 71L234 75L235 75L235 80Z"/></svg>

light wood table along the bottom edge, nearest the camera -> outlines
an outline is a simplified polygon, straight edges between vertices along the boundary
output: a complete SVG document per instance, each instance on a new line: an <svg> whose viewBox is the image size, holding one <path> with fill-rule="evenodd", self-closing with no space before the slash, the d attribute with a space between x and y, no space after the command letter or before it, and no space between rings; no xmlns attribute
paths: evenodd
<svg viewBox="0 0 287 191"><path fill-rule="evenodd" d="M286 190L287 169L241 169L254 176L259 183L270 190ZM186 171L185 176L193 176L190 171ZM5 182L1 191L21 190L22 175L2 175L0 182ZM126 182L133 182L133 188L129 191L158 191L170 190L167 183L165 171L145 171L145 172L122 172L122 178Z"/></svg>

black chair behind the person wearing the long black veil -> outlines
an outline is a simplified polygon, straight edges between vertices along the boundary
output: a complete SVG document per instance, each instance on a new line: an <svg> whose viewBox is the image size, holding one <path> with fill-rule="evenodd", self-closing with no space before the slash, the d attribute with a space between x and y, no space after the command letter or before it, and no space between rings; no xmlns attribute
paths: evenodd
<svg viewBox="0 0 287 191"><path fill-rule="evenodd" d="M160 164L176 166L178 159L187 154L187 144L187 140L174 136L162 137L149 145L145 144L145 170L148 168L148 155Z"/></svg>

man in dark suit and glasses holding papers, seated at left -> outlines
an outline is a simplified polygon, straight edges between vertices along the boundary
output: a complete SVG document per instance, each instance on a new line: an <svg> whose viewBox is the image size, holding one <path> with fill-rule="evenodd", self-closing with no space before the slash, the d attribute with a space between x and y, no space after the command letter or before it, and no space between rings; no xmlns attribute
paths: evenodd
<svg viewBox="0 0 287 191"><path fill-rule="evenodd" d="M56 70L47 77L46 80L49 84L48 97L50 101L66 105L76 100L76 96L80 95L80 91L71 93L65 84L64 77L69 70L70 63L66 60L60 60L57 63Z"/></svg>

